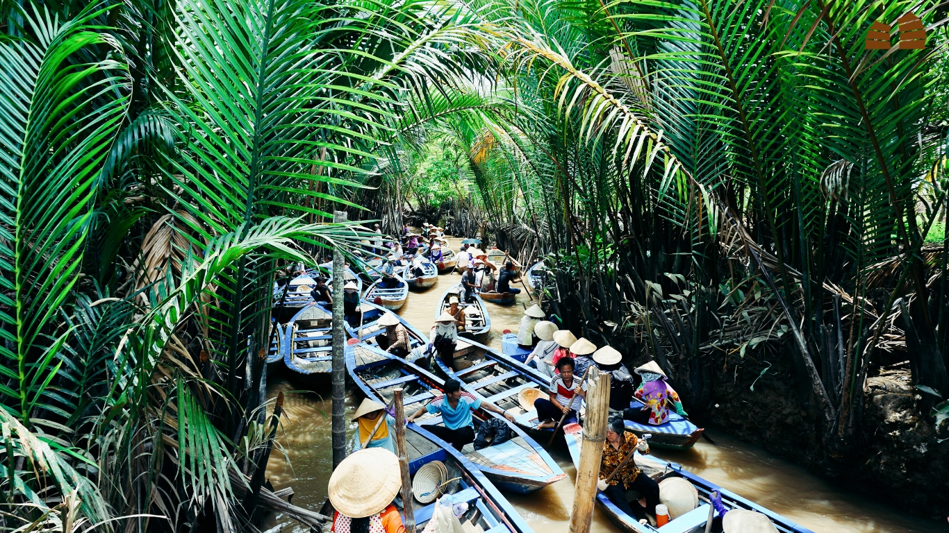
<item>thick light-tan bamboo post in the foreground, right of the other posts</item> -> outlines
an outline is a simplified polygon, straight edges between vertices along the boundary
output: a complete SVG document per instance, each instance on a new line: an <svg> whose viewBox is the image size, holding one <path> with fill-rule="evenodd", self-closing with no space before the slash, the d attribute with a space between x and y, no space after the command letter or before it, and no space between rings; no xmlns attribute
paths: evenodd
<svg viewBox="0 0 949 533"><path fill-rule="evenodd" d="M570 533L588 533L590 530L596 483L600 479L600 459L606 440L606 423L609 419L609 373L601 373L593 367L587 383L584 440L580 449L580 465L577 467L573 512L570 513Z"/></svg>

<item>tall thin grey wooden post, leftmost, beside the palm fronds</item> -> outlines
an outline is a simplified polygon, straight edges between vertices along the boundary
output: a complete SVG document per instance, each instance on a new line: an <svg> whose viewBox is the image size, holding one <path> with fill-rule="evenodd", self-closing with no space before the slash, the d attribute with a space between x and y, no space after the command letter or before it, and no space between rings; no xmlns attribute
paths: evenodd
<svg viewBox="0 0 949 533"><path fill-rule="evenodd" d="M334 211L333 222L346 221L345 211ZM343 250L333 249L333 469L346 458L346 406L345 406L345 361L343 353L346 344L343 326L343 285L346 282Z"/></svg>

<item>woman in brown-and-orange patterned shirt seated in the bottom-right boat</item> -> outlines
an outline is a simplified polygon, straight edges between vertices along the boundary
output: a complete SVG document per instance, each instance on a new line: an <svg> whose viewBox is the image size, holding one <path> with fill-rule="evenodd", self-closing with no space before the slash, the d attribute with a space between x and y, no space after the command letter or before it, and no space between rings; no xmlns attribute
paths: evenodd
<svg viewBox="0 0 949 533"><path fill-rule="evenodd" d="M620 467L626 455L639 450L640 453L649 453L649 444L640 440L636 434L626 432L623 417L614 414L609 418L606 427L606 442L603 444L603 456L600 459L600 481L596 487L603 491L606 498L621 511L637 519L644 518L645 513L656 516L656 505L660 504L659 484L642 470L636 467L636 460L630 459L608 483L607 477L613 470ZM629 505L626 501L626 490L635 489L645 499L637 505ZM645 507L645 508L643 508Z"/></svg>

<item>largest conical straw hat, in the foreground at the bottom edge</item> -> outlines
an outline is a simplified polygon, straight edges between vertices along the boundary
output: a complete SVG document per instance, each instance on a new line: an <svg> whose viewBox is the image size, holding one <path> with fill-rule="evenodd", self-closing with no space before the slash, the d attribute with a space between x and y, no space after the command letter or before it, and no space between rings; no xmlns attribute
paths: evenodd
<svg viewBox="0 0 949 533"><path fill-rule="evenodd" d="M329 476L329 501L349 518L372 516L399 494L399 457L384 448L367 448L346 457Z"/></svg>

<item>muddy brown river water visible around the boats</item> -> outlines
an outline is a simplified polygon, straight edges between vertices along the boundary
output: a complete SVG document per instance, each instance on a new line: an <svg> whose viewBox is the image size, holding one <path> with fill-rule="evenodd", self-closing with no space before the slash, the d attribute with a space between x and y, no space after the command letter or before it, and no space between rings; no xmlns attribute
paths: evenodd
<svg viewBox="0 0 949 533"><path fill-rule="evenodd" d="M460 248L460 239L449 237L448 240L453 249ZM437 285L412 292L399 314L427 333L435 324L435 309L442 293L459 280L457 274L439 276ZM517 330L525 304L530 304L530 298L524 293L510 307L488 304L492 332L486 343L500 350L501 334L505 329ZM270 457L267 477L275 488L293 487L295 505L319 510L326 500L333 457L329 387L325 391L290 394L295 390L286 375L270 379L269 395L283 391L287 397L288 419L278 439L279 447ZM346 413L353 413L361 399L354 394L352 386L347 386ZM352 437L354 430L355 424L350 423L347 438ZM900 512L898 496L894 496L894 506L881 505L835 487L800 466L727 434L714 431L709 434L715 439L715 446L699 441L691 450L654 450L654 453L815 532L949 532L947 524ZM569 481L560 481L528 495L507 496L535 532L567 533L576 470L562 442L559 447L555 444L550 454L568 473ZM275 524L286 524L282 531L302 531L296 523L286 519L271 519L268 525ZM622 533L622 530L598 508L594 511L591 532Z"/></svg>

